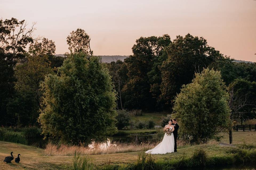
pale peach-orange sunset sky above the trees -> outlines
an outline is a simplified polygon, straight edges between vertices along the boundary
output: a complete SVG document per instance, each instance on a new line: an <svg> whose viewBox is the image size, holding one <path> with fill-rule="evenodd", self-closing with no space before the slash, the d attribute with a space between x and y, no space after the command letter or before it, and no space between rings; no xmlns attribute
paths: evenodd
<svg viewBox="0 0 256 170"><path fill-rule="evenodd" d="M55 41L56 54L82 28L95 55L130 55L141 36L190 33L224 55L256 62L254 0L0 0L0 11L3 19L37 22L35 33Z"/></svg>

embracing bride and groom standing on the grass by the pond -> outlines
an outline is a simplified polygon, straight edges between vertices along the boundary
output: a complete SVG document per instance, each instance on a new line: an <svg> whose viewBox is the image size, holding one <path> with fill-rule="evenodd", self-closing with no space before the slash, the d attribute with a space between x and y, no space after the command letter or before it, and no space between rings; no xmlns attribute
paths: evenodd
<svg viewBox="0 0 256 170"><path fill-rule="evenodd" d="M177 152L177 136L178 136L179 125L177 120L173 119L169 121L168 125L165 125L165 131L170 131L170 133L165 133L162 142L160 142L156 147L145 153L149 154L166 154L171 152Z"/></svg>

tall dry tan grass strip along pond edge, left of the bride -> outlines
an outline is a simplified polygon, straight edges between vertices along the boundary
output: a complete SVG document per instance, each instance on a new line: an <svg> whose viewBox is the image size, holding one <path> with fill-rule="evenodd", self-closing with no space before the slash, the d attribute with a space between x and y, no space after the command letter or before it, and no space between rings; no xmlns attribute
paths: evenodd
<svg viewBox="0 0 256 170"><path fill-rule="evenodd" d="M118 144L116 146L110 146L109 148L88 148L83 146L69 146L61 145L60 147L51 143L46 145L43 151L43 156L73 156L75 152L79 152L81 155L102 155L102 154L115 154L126 152L138 152L152 149L156 146L155 143L145 143L141 145L136 144Z"/></svg>

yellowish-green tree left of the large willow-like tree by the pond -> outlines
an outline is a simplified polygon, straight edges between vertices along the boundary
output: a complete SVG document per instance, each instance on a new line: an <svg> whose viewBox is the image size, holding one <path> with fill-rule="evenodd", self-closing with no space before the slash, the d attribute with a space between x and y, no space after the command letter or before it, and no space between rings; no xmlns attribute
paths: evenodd
<svg viewBox="0 0 256 170"><path fill-rule="evenodd" d="M16 90L33 91L38 107L40 107L40 83L45 75L53 73L48 56L55 53L54 42L43 39L42 43L35 42L29 47L26 57L15 68Z"/></svg>

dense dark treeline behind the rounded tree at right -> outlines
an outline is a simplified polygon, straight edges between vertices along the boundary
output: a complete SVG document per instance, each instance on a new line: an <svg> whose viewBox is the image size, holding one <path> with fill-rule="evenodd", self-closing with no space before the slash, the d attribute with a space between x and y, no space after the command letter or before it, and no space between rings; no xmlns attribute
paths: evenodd
<svg viewBox="0 0 256 170"><path fill-rule="evenodd" d="M226 86L237 79L256 81L256 63L234 62L202 37L187 34L171 41L163 35L141 37L136 43L134 55L108 64L119 109L171 111L181 86L207 67L220 70Z"/></svg>

